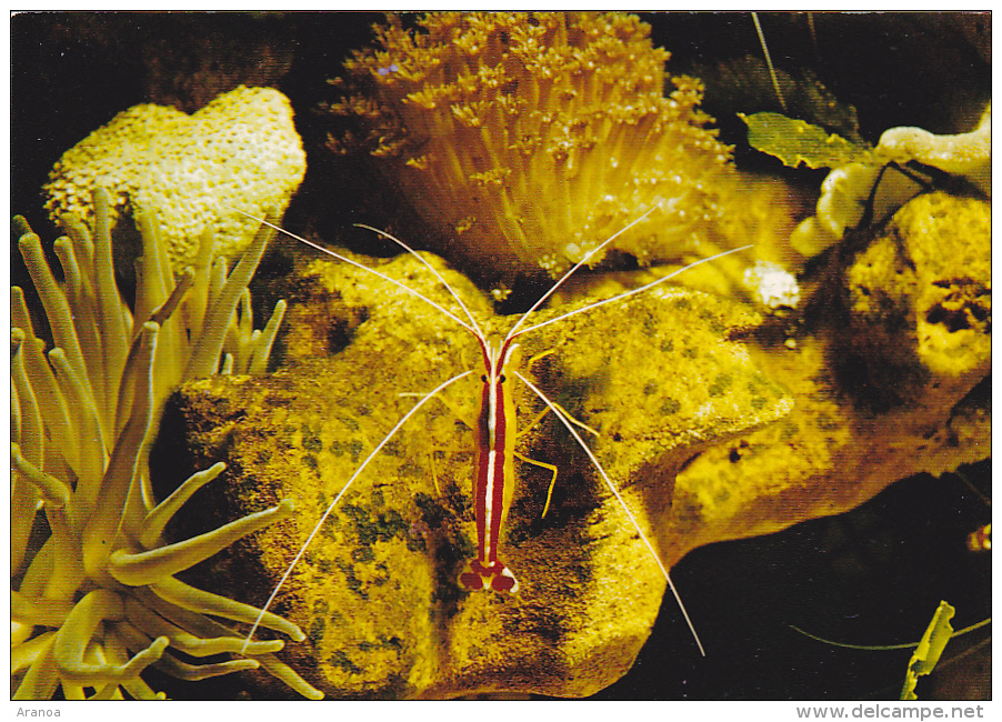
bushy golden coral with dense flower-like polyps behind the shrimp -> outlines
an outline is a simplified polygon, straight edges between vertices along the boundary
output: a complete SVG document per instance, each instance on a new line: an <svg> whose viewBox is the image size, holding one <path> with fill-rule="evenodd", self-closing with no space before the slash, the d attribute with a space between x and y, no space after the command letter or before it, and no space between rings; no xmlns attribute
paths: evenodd
<svg viewBox="0 0 1002 722"><path fill-rule="evenodd" d="M358 51L332 110L338 151L374 157L481 280L557 273L658 202L664 217L611 248L641 262L709 254L748 231L730 215L730 149L699 109L701 83L673 78L665 50L623 13L391 17ZM747 237L745 237L747 238ZM598 255L591 263L601 260Z"/></svg>

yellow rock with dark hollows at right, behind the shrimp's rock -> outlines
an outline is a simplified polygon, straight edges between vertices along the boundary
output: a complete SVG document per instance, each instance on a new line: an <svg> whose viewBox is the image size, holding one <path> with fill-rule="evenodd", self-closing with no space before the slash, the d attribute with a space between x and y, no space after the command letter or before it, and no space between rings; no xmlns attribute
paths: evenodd
<svg viewBox="0 0 1002 722"><path fill-rule="evenodd" d="M836 514L894 480L991 453L991 204L920 195L834 262L822 325L795 352L752 353L795 398L792 412L675 480L674 499L705 510L692 548Z"/></svg>

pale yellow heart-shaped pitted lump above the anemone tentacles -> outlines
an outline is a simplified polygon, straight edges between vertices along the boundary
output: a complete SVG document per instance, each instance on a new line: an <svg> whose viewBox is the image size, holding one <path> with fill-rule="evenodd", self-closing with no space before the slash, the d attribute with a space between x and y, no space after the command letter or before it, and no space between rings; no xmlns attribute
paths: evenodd
<svg viewBox="0 0 1002 722"><path fill-rule="evenodd" d="M193 264L203 232L216 235L217 257L238 257L257 221L285 210L305 173L305 153L289 100L271 88L238 88L188 116L163 106L134 106L63 153L46 184L52 220L69 215L88 227L90 194L112 197L110 218L117 265L131 268L138 239L119 223L136 208L156 209L174 271Z"/></svg>

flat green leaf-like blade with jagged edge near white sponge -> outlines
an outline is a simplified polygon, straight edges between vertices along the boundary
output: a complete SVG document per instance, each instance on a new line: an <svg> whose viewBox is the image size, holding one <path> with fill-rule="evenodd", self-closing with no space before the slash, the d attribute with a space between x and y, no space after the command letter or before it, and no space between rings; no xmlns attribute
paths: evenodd
<svg viewBox="0 0 1002 722"><path fill-rule="evenodd" d="M800 163L815 169L838 168L864 161L870 154L869 147L829 134L823 128L803 120L793 120L780 113L738 116L748 126L749 144L775 156L790 168L796 168Z"/></svg>

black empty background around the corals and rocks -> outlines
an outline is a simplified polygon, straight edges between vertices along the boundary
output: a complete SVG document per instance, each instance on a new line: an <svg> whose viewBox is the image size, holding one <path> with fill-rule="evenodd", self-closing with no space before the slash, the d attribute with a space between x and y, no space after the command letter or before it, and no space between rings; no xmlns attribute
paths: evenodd
<svg viewBox="0 0 1002 722"><path fill-rule="evenodd" d="M991 93L991 17L961 13L762 13L773 62L809 70L858 111L859 134L876 142L890 127L969 130L970 109ZM749 13L644 14L672 73L699 70L704 108L739 166L788 173L747 148L730 107L734 89L713 84L713 67L761 58ZM318 103L352 48L371 38L373 13L26 13L11 31L11 210L42 239L56 237L41 184L63 151L139 102L192 112L238 84L285 92L308 152L309 171L287 223L344 228L379 223L364 191L342 179L323 149L328 119ZM709 69L709 70L708 70ZM741 93L751 113L779 110L771 88ZM966 126L966 127L965 127ZM834 130L834 129L832 129ZM823 172L805 182L816 189ZM331 198L339 199L330 202ZM320 209L323 209L322 211ZM318 214L322 214L321 220ZM300 221L301 224L298 224ZM12 248L12 277L20 259ZM918 641L941 599L956 606L954 628L990 615L990 552L966 535L991 520L991 462L942 479L899 482L855 511L782 533L714 544L672 572L707 646L700 659L673 600L631 673L599 699L896 699L910 651L856 651L808 639L858 644ZM923 699L990 696L989 630L948 646ZM234 680L173 685L176 699L237 693Z"/></svg>

